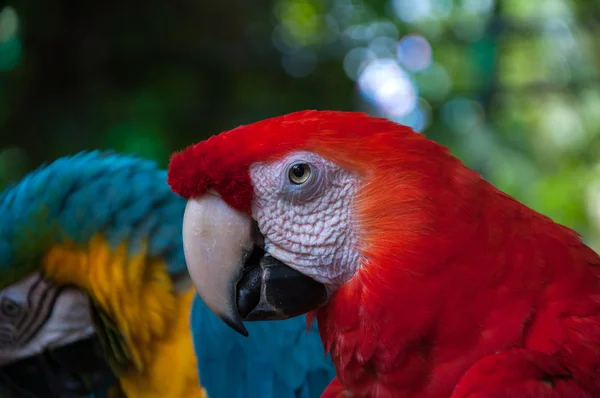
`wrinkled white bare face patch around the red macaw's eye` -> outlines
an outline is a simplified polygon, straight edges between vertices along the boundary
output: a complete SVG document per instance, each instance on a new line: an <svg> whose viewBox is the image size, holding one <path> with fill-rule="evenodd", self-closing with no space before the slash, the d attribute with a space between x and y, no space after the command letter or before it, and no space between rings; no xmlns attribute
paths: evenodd
<svg viewBox="0 0 600 398"><path fill-rule="evenodd" d="M359 254L352 206L358 178L310 152L256 163L250 178L252 216L265 252L333 289L354 275Z"/></svg>

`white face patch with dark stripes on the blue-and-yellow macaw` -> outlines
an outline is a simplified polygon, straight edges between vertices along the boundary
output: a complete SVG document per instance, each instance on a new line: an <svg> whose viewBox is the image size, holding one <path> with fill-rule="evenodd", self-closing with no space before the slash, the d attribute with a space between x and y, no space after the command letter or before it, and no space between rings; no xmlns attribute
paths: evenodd
<svg viewBox="0 0 600 398"><path fill-rule="evenodd" d="M36 272L0 290L0 366L94 334L85 294Z"/></svg>

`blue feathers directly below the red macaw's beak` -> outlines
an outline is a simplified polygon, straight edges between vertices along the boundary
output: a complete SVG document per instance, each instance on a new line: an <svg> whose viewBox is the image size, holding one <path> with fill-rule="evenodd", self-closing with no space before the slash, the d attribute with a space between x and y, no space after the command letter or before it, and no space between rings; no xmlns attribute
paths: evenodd
<svg viewBox="0 0 600 398"><path fill-rule="evenodd" d="M233 331L194 297L191 313L200 380L209 398L318 398L335 377L316 322L248 322Z"/></svg>

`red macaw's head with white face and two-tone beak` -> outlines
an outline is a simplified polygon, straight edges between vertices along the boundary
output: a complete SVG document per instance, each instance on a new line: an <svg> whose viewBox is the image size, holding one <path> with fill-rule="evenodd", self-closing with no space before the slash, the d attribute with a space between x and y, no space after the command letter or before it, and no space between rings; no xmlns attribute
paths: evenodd
<svg viewBox="0 0 600 398"><path fill-rule="evenodd" d="M357 273L373 282L386 259L422 256L424 234L461 211L445 201L472 178L462 170L408 127L302 111L174 154L168 181L188 199L184 250L200 296L246 335L242 320L307 313Z"/></svg>

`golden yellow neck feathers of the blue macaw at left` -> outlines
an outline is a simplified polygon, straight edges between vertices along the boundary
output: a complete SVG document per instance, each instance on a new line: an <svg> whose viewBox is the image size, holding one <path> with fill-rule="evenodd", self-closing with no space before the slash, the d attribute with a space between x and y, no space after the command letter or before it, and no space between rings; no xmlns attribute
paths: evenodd
<svg viewBox="0 0 600 398"><path fill-rule="evenodd" d="M86 248L52 247L42 265L57 283L87 291L119 328L135 364L120 379L126 397L205 398L189 327L193 289L175 293L164 261L145 246L127 252L95 236Z"/></svg>

